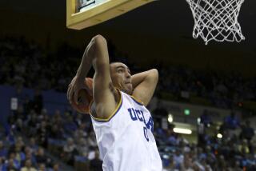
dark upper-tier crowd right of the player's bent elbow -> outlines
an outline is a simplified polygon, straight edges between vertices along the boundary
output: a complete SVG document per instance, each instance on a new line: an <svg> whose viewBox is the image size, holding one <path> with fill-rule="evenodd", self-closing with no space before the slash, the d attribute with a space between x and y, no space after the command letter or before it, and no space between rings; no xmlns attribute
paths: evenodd
<svg viewBox="0 0 256 171"><path fill-rule="evenodd" d="M160 89L179 97L203 97L218 108L242 107L243 101L256 101L256 78L243 78L241 74L190 70L182 66L159 67Z"/></svg>

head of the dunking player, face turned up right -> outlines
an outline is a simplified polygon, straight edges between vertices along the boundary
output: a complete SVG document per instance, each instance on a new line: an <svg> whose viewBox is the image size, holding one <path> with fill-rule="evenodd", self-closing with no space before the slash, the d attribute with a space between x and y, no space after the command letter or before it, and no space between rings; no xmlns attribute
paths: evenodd
<svg viewBox="0 0 256 171"><path fill-rule="evenodd" d="M123 92L132 94L133 85L131 84L130 70L122 62L110 63L110 76L113 85Z"/></svg>

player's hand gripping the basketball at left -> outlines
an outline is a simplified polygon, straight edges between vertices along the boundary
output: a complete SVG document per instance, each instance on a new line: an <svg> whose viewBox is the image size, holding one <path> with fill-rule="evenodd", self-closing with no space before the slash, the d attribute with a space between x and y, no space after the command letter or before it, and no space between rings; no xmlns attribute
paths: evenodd
<svg viewBox="0 0 256 171"><path fill-rule="evenodd" d="M78 92L81 89L86 89L86 91L90 93L90 95L92 94L91 90L84 82L85 82L85 79L78 78L77 76L75 76L70 82L70 85L66 93L66 97L70 101L70 104L74 100L75 104L78 105Z"/></svg>

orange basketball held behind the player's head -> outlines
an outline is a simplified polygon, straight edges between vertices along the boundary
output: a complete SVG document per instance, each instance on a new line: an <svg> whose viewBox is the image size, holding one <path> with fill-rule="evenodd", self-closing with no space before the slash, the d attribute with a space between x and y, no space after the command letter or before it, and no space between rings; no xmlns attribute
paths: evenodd
<svg viewBox="0 0 256 171"><path fill-rule="evenodd" d="M90 90L81 89L78 92L78 105L74 102L74 99L71 101L72 107L79 113L89 113L90 102L93 100L93 79L86 78L84 83L90 88ZM90 93L88 93L88 91L90 91Z"/></svg>

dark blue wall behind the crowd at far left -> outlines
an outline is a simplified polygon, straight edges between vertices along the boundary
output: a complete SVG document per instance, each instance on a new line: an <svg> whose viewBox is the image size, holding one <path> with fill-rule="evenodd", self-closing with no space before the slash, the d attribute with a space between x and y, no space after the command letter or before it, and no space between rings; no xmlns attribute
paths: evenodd
<svg viewBox="0 0 256 171"><path fill-rule="evenodd" d="M19 97L25 98L26 95L33 100L33 89L22 89L22 93ZM6 123L10 110L10 98L17 97L16 89L10 85L0 85L0 122L1 125ZM66 93L58 93L54 90L42 91L43 105L47 109L49 114L53 114L56 109L64 112L70 105L66 99Z"/></svg>

